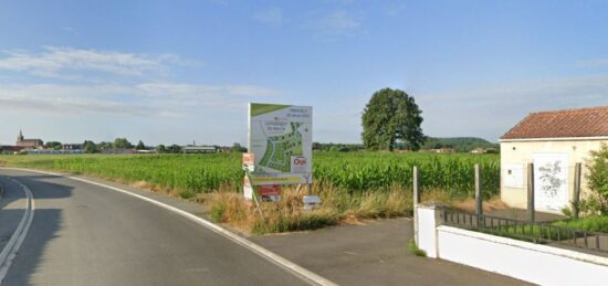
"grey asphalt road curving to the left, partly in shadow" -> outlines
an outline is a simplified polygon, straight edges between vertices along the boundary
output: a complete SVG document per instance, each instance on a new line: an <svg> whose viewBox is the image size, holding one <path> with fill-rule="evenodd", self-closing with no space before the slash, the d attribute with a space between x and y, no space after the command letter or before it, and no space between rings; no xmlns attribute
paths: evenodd
<svg viewBox="0 0 608 286"><path fill-rule="evenodd" d="M2 285L305 285L178 214L63 177L0 170L28 186L33 222ZM2 210L3 212L4 210Z"/></svg>

